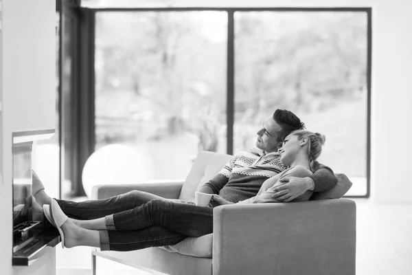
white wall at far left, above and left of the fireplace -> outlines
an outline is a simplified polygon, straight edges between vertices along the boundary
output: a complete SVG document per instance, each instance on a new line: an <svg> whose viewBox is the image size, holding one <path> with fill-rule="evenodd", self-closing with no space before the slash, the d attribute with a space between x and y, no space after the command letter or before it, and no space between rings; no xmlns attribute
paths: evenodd
<svg viewBox="0 0 412 275"><path fill-rule="evenodd" d="M0 273L12 274L12 132L54 129L56 2L3 0Z"/></svg>

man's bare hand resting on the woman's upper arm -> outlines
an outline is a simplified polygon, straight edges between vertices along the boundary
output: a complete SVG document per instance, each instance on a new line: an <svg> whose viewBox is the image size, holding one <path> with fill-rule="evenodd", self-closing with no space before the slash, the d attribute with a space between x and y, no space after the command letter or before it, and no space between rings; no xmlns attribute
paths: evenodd
<svg viewBox="0 0 412 275"><path fill-rule="evenodd" d="M289 202L314 189L314 182L310 177L284 177L279 182L281 185L273 188L275 194L272 195L278 201Z"/></svg>

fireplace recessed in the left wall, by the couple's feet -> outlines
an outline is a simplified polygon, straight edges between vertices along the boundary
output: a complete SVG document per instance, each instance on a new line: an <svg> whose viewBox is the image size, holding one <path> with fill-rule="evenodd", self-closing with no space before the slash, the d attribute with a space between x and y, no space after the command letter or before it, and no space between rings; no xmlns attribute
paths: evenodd
<svg viewBox="0 0 412 275"><path fill-rule="evenodd" d="M58 231L44 222L43 210L32 196L34 137L44 131L14 133L12 145L13 265L31 265L59 241Z"/></svg>

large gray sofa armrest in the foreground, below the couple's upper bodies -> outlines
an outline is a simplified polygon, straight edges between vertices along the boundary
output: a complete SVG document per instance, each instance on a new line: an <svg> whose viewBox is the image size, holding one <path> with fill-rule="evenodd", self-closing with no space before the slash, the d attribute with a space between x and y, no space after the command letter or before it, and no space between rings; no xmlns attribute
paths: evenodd
<svg viewBox="0 0 412 275"><path fill-rule="evenodd" d="M349 199L214 208L213 274L355 274Z"/></svg>

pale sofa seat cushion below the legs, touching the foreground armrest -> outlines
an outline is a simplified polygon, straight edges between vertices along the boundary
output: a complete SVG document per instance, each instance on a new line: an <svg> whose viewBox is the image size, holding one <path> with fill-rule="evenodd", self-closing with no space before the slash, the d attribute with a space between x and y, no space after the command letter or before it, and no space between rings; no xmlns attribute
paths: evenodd
<svg viewBox="0 0 412 275"><path fill-rule="evenodd" d="M213 233L198 238L188 237L175 245L160 247L168 252L176 252L187 256L211 258Z"/></svg>

